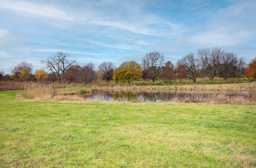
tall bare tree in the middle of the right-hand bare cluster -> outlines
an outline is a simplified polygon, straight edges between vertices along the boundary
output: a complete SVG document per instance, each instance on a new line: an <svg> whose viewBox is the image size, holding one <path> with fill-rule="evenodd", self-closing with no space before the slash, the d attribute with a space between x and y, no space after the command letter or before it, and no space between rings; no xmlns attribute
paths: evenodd
<svg viewBox="0 0 256 168"><path fill-rule="evenodd" d="M198 63L210 80L214 80L214 77L217 76L224 54L225 52L218 47L212 49L198 49Z"/></svg>

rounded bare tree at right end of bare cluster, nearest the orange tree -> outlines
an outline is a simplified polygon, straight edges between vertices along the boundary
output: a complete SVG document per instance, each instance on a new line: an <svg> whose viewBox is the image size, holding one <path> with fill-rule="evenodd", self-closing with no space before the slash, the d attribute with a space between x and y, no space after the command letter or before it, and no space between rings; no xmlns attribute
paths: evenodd
<svg viewBox="0 0 256 168"><path fill-rule="evenodd" d="M236 54L226 52L223 54L222 61L220 63L219 74L224 80L234 77L239 73L238 71L243 68L244 64L243 58L238 60Z"/></svg>

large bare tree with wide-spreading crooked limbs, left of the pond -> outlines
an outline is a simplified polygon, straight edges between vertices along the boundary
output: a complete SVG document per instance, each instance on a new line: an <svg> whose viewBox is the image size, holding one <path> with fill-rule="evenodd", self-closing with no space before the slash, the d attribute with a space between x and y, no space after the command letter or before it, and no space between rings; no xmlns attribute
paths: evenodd
<svg viewBox="0 0 256 168"><path fill-rule="evenodd" d="M41 63L52 72L52 75L56 75L55 77L58 78L59 83L62 83L68 67L76 63L76 60L70 59L68 53L58 51L55 55L48 57L46 60L42 60Z"/></svg>

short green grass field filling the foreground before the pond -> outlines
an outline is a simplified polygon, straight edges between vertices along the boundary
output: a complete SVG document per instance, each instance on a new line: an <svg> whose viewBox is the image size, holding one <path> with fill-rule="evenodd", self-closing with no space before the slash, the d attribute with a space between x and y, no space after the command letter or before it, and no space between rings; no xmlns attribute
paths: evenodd
<svg viewBox="0 0 256 168"><path fill-rule="evenodd" d="M256 105L15 95L0 92L0 167L256 166Z"/></svg>

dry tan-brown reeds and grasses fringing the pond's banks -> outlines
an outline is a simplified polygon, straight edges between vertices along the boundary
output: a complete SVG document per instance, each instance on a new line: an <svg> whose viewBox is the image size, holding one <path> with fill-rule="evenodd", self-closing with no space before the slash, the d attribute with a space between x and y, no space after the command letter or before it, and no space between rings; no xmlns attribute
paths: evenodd
<svg viewBox="0 0 256 168"><path fill-rule="evenodd" d="M0 90L20 90L17 94L19 98L28 98L36 100L68 100L68 101L88 101L79 94L81 91L60 91L56 92L56 88L74 87L81 86L79 84L46 84L36 82L0 82ZM256 94L248 94L245 97L241 96L226 96L224 94L208 94L203 95L201 91L256 91L255 83L243 83L243 84L198 84L198 85L166 85L166 86L135 86L127 84L116 84L116 83L99 83L94 84L94 88L101 89L115 89L115 90L150 90L158 91L161 89L165 90L176 90L177 95L174 99L165 100L170 102L200 102L200 103L216 103L216 104L255 104ZM91 92L88 90L86 92ZM193 91L194 94L181 98L179 91ZM128 101L118 99L118 101ZM134 101L134 100L133 100Z"/></svg>

